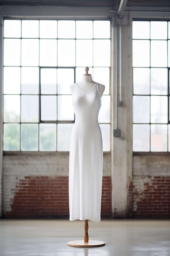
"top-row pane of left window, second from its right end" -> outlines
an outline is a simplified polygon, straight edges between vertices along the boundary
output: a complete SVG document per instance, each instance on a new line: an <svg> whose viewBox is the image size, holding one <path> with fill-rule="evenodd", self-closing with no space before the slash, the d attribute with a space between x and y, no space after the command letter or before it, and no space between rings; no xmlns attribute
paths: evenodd
<svg viewBox="0 0 170 256"><path fill-rule="evenodd" d="M93 22L92 21L76 21L76 38L92 39L93 38Z"/></svg>

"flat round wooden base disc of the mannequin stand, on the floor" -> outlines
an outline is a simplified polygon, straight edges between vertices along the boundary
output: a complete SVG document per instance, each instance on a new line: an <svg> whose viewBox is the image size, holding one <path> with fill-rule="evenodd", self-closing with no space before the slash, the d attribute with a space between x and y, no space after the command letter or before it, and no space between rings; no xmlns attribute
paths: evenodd
<svg viewBox="0 0 170 256"><path fill-rule="evenodd" d="M75 246L75 247L99 247L99 246L104 246L105 242L95 241L95 240L89 240L89 242L84 242L84 240L77 240L77 241L70 241L67 244L69 246Z"/></svg>

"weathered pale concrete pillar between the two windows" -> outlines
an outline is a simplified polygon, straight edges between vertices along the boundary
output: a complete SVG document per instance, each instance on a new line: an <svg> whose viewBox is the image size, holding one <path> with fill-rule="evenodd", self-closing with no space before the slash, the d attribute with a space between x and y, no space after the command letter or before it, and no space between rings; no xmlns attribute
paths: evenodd
<svg viewBox="0 0 170 256"><path fill-rule="evenodd" d="M115 44L115 24L113 21L113 43ZM118 90L119 101L119 26L118 26ZM113 217L127 217L132 214L130 188L132 186L132 22L126 13L121 26L121 101L123 106L117 110L120 137L113 137L115 129L115 45L113 46L113 77L112 77L112 214Z"/></svg>

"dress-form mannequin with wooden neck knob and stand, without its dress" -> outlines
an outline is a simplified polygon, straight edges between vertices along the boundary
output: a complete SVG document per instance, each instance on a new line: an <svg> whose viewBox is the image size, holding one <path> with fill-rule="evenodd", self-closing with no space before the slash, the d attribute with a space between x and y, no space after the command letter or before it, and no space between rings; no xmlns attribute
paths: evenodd
<svg viewBox="0 0 170 256"><path fill-rule="evenodd" d="M95 86L95 82L92 80L91 74L88 74L89 67L85 68L86 74L83 74L82 80L77 83L77 86L81 91L83 91L85 94L89 93ZM98 83L97 83L98 84ZM75 84L70 85L70 91L73 94ZM105 90L105 86L102 84L98 84L98 91L100 93L100 97L102 97L103 92ZM84 193L86 193L84 191ZM93 241L89 240L88 235L88 219L85 220L84 223L84 240L78 240L78 241L70 241L68 242L69 246L76 246L76 247L98 247L98 246L104 246L105 243L103 241Z"/></svg>

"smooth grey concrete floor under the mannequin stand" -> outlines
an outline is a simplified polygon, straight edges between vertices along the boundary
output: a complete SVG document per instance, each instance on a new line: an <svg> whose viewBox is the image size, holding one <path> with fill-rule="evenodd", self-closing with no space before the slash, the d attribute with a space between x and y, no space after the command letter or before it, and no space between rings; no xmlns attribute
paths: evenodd
<svg viewBox="0 0 170 256"><path fill-rule="evenodd" d="M89 221L89 239L103 247L70 247L84 221L0 219L0 256L170 256L170 220Z"/></svg>

